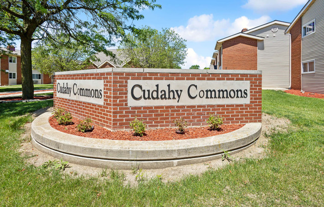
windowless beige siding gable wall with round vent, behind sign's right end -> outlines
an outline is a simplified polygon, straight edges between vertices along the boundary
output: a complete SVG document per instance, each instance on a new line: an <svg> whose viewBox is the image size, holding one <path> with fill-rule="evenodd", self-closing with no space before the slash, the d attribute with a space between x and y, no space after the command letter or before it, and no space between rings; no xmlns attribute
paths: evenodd
<svg viewBox="0 0 324 207"><path fill-rule="evenodd" d="M272 32L273 26L278 27ZM290 87L290 37L287 26L273 24L249 34L264 37L258 41L257 69L262 71L262 87ZM275 36L274 36L275 35Z"/></svg>

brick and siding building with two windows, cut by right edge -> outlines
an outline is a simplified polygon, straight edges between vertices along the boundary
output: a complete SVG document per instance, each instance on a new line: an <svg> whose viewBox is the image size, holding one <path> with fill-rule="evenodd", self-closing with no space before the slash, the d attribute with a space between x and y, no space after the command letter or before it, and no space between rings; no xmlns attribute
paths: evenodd
<svg viewBox="0 0 324 207"><path fill-rule="evenodd" d="M324 0L309 0L285 32L291 35L291 88L324 94Z"/></svg>

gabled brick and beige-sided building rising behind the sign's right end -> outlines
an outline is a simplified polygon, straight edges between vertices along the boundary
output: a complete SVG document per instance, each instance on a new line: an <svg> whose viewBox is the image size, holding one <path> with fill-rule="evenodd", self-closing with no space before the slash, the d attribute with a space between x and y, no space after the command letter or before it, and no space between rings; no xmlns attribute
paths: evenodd
<svg viewBox="0 0 324 207"><path fill-rule="evenodd" d="M211 64L218 70L260 70L262 87L290 88L289 25L274 20L218 40Z"/></svg>

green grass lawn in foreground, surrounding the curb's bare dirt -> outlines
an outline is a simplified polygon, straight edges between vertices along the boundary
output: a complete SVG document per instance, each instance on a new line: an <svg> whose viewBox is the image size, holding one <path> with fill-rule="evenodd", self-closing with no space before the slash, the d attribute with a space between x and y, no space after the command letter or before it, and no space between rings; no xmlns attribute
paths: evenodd
<svg viewBox="0 0 324 207"><path fill-rule="evenodd" d="M0 104L1 206L266 206L324 205L324 100L263 91L262 110L286 117L288 132L269 135L267 157L245 159L178 182L159 178L137 188L109 179L76 177L34 167L17 149L28 112L52 101Z"/></svg>

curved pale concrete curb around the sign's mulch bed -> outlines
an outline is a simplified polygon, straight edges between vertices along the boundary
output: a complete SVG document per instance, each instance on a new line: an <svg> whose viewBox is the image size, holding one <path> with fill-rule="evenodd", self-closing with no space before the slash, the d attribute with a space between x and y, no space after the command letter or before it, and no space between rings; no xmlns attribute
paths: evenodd
<svg viewBox="0 0 324 207"><path fill-rule="evenodd" d="M131 169L165 168L206 162L250 146L261 134L261 123L248 123L236 131L197 139L123 141L93 139L52 128L51 112L38 116L31 126L33 145L69 162L93 167Z"/></svg>

